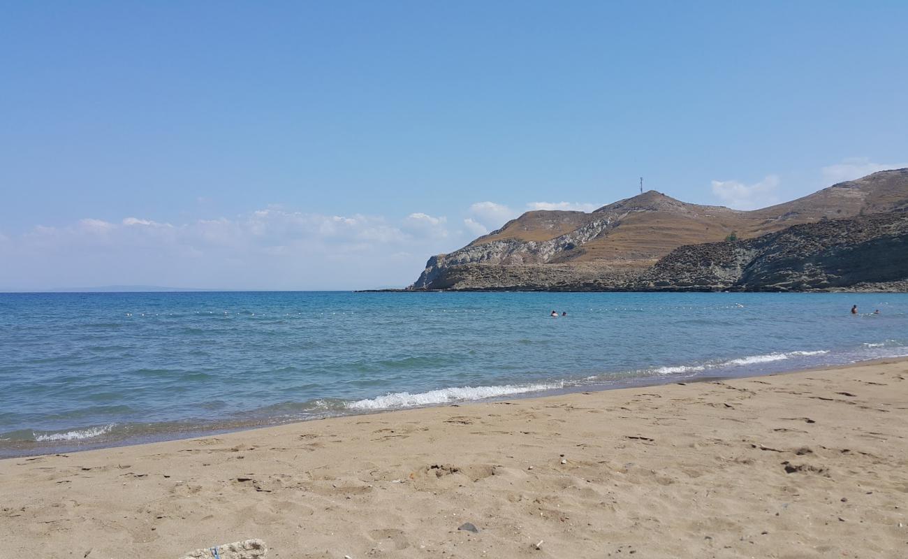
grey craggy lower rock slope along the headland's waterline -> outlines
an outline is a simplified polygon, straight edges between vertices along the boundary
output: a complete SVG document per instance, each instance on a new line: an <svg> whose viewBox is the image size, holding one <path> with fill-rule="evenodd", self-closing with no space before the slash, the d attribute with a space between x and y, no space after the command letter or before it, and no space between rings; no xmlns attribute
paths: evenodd
<svg viewBox="0 0 908 559"><path fill-rule="evenodd" d="M429 289L506 291L908 290L908 213L794 225L755 239L686 245L643 272L586 264L433 262Z"/></svg>

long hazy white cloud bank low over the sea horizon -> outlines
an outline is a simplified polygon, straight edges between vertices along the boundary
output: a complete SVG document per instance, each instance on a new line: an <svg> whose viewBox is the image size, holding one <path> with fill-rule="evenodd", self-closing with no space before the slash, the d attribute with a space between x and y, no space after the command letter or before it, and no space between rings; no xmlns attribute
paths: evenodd
<svg viewBox="0 0 908 559"><path fill-rule="evenodd" d="M463 227L449 229L446 217L421 212L388 218L270 206L183 224L136 216L115 223L86 218L57 227L38 225L22 234L7 232L0 238L0 285L403 286L419 275L429 255L471 239Z"/></svg>

